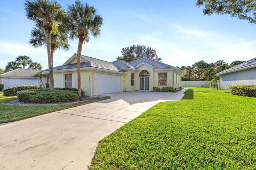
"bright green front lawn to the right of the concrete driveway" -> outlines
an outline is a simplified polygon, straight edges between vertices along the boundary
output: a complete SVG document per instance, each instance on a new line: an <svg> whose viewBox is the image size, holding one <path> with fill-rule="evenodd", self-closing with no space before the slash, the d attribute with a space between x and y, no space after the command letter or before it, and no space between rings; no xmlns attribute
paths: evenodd
<svg viewBox="0 0 256 170"><path fill-rule="evenodd" d="M255 170L256 98L186 92L104 138L90 170Z"/></svg>

